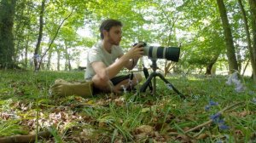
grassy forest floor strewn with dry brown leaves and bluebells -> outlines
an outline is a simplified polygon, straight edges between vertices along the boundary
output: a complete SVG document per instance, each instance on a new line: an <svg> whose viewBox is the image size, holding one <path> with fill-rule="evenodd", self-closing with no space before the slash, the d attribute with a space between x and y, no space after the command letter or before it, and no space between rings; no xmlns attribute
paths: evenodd
<svg viewBox="0 0 256 143"><path fill-rule="evenodd" d="M84 72L0 71L0 140L256 142L256 85L249 77L241 78L240 91L225 76L166 77L185 99L160 79L155 95L148 89L53 98L57 78L81 81Z"/></svg>

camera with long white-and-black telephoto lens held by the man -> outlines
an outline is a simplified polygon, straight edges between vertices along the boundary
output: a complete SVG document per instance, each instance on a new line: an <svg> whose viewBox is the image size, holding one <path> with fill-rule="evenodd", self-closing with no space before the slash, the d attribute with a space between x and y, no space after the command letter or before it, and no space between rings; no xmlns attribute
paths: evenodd
<svg viewBox="0 0 256 143"><path fill-rule="evenodd" d="M178 47L157 47L157 46L148 46L147 43L143 43L140 47L143 47L144 55L148 55L150 59L166 59L172 61L179 60L180 48ZM133 46L136 46L138 43L135 43Z"/></svg>

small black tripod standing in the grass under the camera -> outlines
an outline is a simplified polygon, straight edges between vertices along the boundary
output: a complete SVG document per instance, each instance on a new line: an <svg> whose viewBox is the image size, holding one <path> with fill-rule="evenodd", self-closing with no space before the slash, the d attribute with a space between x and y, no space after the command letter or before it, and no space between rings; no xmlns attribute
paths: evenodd
<svg viewBox="0 0 256 143"><path fill-rule="evenodd" d="M156 90L156 78L155 77L160 77L168 86L170 86L177 94L179 94L182 98L185 98L183 94L181 94L173 85L172 83L168 82L166 80L166 78L161 75L160 73L156 72L157 70L157 65L156 65L156 60L154 59L151 59L152 60L152 69L153 69L153 72L148 76L148 74L146 75L145 74L145 77L147 78L146 82L143 83L141 89L140 89L140 92L145 92L145 90L149 88L152 90L153 89L153 94L155 94L155 90ZM151 83L151 80L152 78L154 78L154 81L153 81L153 88L152 88L152 83Z"/></svg>

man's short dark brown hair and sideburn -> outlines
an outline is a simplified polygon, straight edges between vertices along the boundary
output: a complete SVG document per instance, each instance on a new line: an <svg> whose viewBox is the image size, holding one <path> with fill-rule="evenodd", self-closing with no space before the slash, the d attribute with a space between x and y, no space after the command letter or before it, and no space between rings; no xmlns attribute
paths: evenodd
<svg viewBox="0 0 256 143"><path fill-rule="evenodd" d="M101 38L102 38L102 39L104 38L103 30L105 30L105 31L110 31L110 29L111 29L113 26L123 26L123 24L122 24L122 22L120 22L119 20L112 20L112 19L109 19L109 20L103 20L103 21L102 21L102 25L100 26Z"/></svg>

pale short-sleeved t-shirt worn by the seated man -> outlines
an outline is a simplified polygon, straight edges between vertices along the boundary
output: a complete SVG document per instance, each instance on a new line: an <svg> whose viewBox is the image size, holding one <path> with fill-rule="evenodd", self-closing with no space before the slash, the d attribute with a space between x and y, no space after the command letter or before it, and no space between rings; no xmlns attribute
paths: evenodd
<svg viewBox="0 0 256 143"><path fill-rule="evenodd" d="M87 66L85 72L85 80L91 80L93 76L96 75L96 72L93 70L91 63L96 61L102 61L105 66L110 66L113 62L124 54L123 50L116 45L113 45L111 48L111 53L108 53L106 49L102 47L102 41L96 43L88 52L87 55Z"/></svg>

